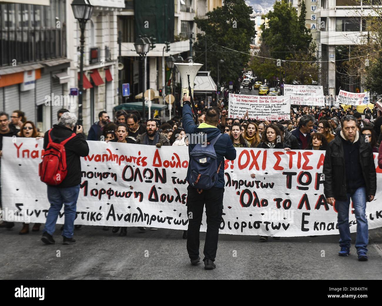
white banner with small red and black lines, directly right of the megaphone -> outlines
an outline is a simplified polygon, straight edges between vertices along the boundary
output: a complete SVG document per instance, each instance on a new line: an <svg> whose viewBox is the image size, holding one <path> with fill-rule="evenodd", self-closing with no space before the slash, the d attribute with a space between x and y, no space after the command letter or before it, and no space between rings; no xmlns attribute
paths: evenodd
<svg viewBox="0 0 382 306"><path fill-rule="evenodd" d="M260 121L290 119L290 97L230 93L228 99L230 118L242 118L248 111L249 118Z"/></svg>

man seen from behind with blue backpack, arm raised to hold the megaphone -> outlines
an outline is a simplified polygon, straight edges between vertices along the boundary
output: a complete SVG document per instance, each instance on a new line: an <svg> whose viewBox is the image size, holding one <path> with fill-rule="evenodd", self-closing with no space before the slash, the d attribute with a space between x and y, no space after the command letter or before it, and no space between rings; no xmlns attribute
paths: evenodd
<svg viewBox="0 0 382 306"><path fill-rule="evenodd" d="M191 93L191 91L189 91ZM183 128L189 137L190 160L187 170L187 251L192 265L197 265L199 257L199 232L204 205L206 205L207 233L204 243L204 269L212 270L214 264L219 227L222 222L224 193L224 158L234 160L236 150L228 134L221 134L217 125L220 110L210 107L204 122L195 125L191 111L191 97L183 97ZM195 143L197 142L197 143Z"/></svg>

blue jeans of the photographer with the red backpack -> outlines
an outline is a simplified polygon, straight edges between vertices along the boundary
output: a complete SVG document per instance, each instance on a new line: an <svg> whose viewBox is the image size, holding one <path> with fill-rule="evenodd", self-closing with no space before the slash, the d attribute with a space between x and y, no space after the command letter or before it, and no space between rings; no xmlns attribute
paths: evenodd
<svg viewBox="0 0 382 306"><path fill-rule="evenodd" d="M50 208L43 232L53 235L56 229L58 213L60 213L62 205L64 205L65 223L62 235L71 238L73 237L74 219L76 218L79 185L65 188L49 185L47 187Z"/></svg>

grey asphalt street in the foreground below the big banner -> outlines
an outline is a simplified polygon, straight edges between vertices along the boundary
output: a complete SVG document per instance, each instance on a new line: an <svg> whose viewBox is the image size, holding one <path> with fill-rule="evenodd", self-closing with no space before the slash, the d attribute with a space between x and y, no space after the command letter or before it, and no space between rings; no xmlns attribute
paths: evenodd
<svg viewBox="0 0 382 306"><path fill-rule="evenodd" d="M357 261L355 234L345 258L337 255L337 235L268 242L259 242L258 236L220 235L217 268L206 271L203 264L189 264L179 230L139 233L129 227L127 236L119 237L102 227L83 226L74 232L78 243L62 245L60 226L56 245L44 245L41 233L18 235L20 224L1 229L0 279L382 279L381 228L369 230L367 262ZM201 247L204 237L201 233Z"/></svg>

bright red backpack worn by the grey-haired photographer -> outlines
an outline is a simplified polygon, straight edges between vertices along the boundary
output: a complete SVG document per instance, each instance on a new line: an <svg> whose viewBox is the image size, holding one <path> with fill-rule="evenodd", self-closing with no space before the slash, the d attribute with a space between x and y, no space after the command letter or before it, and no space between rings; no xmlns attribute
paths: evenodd
<svg viewBox="0 0 382 306"><path fill-rule="evenodd" d="M55 186L62 183L68 172L68 169L66 169L66 152L64 145L76 136L76 134L73 133L68 139L65 139L61 143L55 143L50 137L50 132L52 132L52 129L48 132L49 143L44 151L42 162L39 164L39 176L41 182Z"/></svg>

